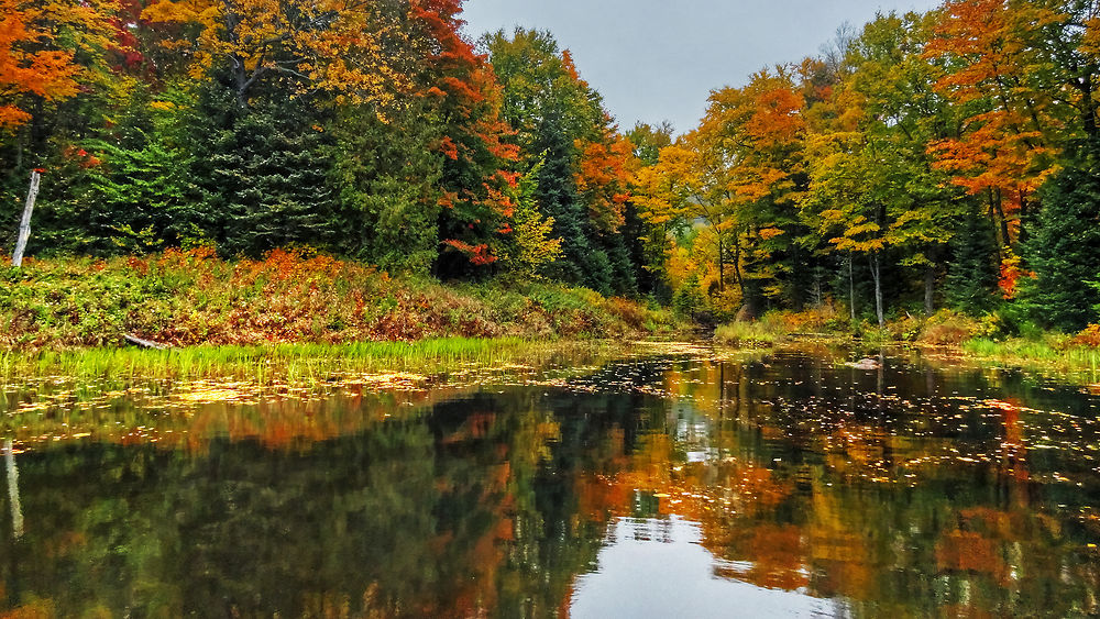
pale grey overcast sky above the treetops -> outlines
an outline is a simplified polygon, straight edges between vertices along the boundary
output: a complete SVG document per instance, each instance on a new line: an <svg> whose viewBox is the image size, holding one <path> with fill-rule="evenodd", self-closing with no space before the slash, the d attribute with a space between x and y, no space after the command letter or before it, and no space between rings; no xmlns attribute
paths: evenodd
<svg viewBox="0 0 1100 619"><path fill-rule="evenodd" d="M757 70L815 55L843 23L939 0L466 0L466 33L549 30L624 130L695 128L706 98Z"/></svg>

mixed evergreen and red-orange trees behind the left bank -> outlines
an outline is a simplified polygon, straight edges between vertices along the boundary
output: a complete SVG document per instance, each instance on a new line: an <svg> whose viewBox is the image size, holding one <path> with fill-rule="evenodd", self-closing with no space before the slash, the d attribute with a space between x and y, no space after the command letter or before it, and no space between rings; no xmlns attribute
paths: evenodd
<svg viewBox="0 0 1100 619"><path fill-rule="evenodd" d="M460 0L2 4L0 243L40 169L32 255L308 245L647 291L631 147L546 33L475 44Z"/></svg>

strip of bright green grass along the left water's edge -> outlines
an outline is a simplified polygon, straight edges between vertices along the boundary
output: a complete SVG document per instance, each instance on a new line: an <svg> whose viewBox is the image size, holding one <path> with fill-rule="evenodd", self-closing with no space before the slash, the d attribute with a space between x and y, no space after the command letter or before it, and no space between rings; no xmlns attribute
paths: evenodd
<svg viewBox="0 0 1100 619"><path fill-rule="evenodd" d="M0 353L0 383L25 378L240 379L317 384L363 373L438 375L471 367L524 363L546 365L591 356L602 342L530 341L519 338L444 338L417 342L191 346L166 351L89 349L78 352Z"/></svg>

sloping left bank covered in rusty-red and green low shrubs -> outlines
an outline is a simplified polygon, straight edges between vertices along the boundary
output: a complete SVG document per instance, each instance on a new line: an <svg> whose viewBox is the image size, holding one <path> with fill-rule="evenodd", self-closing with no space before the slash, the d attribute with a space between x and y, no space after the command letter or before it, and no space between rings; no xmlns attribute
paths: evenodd
<svg viewBox="0 0 1100 619"><path fill-rule="evenodd" d="M302 252L226 261L210 250L168 251L0 267L0 351L8 352L118 346L129 333L211 346L194 353L205 358L254 354L212 346L289 343L349 345L338 352L354 356L355 342L623 338L679 327L669 311L583 288L510 280L449 286ZM81 363L127 363L130 353L102 354L102 362L86 355ZM62 363L42 358L46 366Z"/></svg>

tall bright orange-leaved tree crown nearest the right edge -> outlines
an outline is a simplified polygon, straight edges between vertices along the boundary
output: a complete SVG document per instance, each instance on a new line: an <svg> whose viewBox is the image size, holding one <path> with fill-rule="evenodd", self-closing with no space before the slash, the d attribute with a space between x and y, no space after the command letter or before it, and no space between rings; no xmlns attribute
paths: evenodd
<svg viewBox="0 0 1100 619"><path fill-rule="evenodd" d="M933 26L925 53L946 69L935 87L961 119L931 147L955 184L987 201L1003 246L1014 245L1021 218L1054 169L1058 128L1074 122L1068 108L1080 107L1078 126L1096 132L1096 65L1065 38L1077 27L1071 22L1087 19L1071 15L1071 7L1086 4L952 0ZM1074 95L1058 96L1063 87Z"/></svg>

